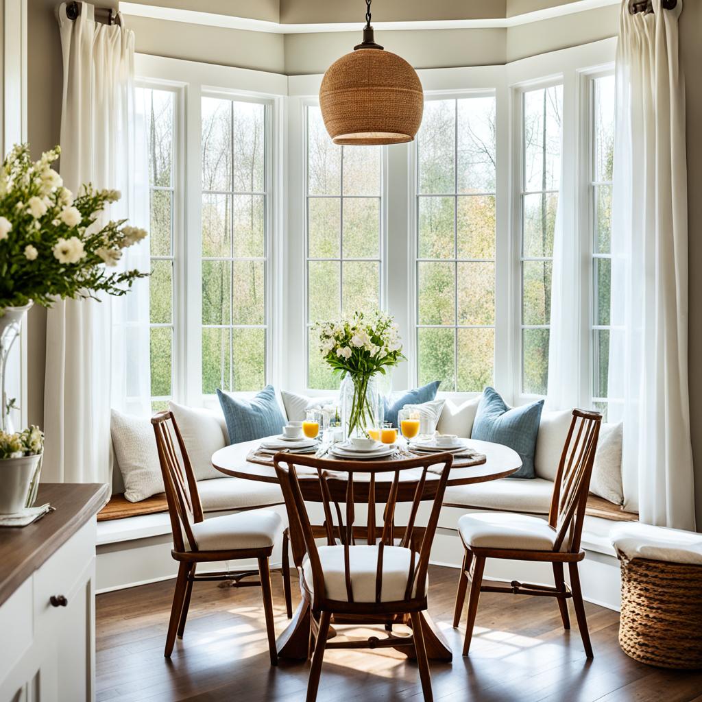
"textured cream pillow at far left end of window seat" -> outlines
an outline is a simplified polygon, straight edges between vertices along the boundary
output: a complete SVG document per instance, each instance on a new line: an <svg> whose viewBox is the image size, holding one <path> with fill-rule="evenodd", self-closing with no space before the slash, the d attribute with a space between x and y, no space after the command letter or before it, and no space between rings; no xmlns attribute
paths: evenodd
<svg viewBox="0 0 702 702"><path fill-rule="evenodd" d="M112 410L112 446L124 480L124 496L140 502L164 491L159 451L151 420Z"/></svg>

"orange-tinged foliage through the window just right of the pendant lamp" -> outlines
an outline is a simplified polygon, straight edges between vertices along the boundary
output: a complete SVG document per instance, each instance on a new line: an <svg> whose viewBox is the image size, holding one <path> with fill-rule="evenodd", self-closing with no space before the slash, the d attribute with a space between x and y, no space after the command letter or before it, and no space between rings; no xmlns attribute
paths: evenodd
<svg viewBox="0 0 702 702"><path fill-rule="evenodd" d="M495 98L425 102L417 139L417 373L480 392L494 382Z"/></svg>

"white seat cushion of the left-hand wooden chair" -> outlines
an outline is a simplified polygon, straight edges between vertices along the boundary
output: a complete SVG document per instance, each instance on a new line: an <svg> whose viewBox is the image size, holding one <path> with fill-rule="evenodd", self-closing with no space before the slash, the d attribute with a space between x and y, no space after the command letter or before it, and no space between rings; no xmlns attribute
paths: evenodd
<svg viewBox="0 0 702 702"><path fill-rule="evenodd" d="M272 546L282 529L282 523L276 512L253 510L211 517L191 526L198 550L230 551Z"/></svg>

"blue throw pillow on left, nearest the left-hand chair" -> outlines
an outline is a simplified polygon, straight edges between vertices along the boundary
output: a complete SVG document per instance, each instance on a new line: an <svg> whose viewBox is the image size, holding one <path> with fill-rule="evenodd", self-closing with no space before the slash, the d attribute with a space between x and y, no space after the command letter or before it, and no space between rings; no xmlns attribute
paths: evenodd
<svg viewBox="0 0 702 702"><path fill-rule="evenodd" d="M285 420L272 385L266 385L252 399L238 399L219 388L217 395L227 422L230 443L241 444L282 432Z"/></svg>

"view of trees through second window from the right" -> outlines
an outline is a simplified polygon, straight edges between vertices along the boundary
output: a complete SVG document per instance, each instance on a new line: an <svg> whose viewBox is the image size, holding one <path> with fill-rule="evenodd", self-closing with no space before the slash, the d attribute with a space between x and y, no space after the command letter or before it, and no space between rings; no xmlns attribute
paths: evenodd
<svg viewBox="0 0 702 702"><path fill-rule="evenodd" d="M546 395L563 86L522 94L522 392Z"/></svg>

